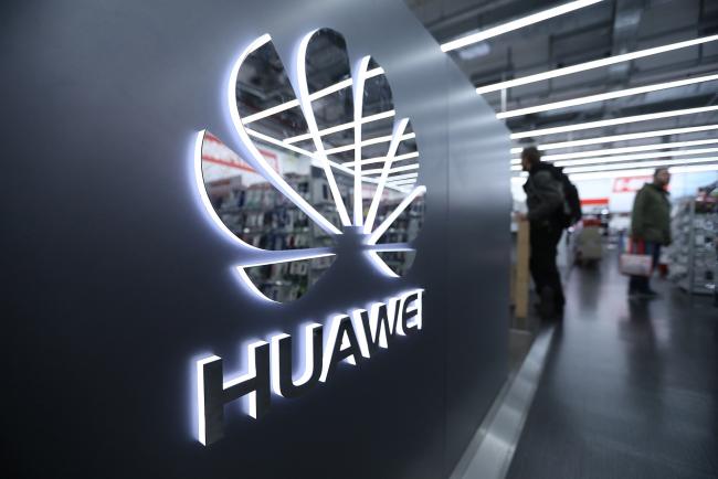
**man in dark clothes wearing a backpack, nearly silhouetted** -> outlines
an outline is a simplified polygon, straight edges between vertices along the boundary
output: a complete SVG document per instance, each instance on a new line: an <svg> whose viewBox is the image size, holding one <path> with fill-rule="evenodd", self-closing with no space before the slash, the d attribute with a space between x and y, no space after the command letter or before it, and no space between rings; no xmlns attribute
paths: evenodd
<svg viewBox="0 0 718 479"><path fill-rule="evenodd" d="M539 315L542 319L563 316L563 287L556 266L558 244L563 230L581 217L581 203L576 187L560 168L541 162L536 147L521 152L521 167L528 172L524 184L529 221L529 269L539 295Z"/></svg>

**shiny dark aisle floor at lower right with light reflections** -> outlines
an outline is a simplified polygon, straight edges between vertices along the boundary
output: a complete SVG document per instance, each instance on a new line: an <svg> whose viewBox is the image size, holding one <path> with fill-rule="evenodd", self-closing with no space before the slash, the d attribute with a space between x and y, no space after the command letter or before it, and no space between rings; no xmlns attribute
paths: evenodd
<svg viewBox="0 0 718 479"><path fill-rule="evenodd" d="M507 477L718 477L718 309L667 281L630 302L615 257L572 272Z"/></svg>

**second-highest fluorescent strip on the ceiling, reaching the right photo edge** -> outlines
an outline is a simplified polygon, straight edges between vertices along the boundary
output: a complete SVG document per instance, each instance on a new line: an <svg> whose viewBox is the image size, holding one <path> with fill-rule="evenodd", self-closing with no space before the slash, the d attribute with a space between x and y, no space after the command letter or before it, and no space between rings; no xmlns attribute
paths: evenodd
<svg viewBox="0 0 718 479"><path fill-rule="evenodd" d="M535 75L528 75L521 78L515 78L506 82L495 83L493 85L479 86L478 88L476 88L476 93L483 95L490 92L498 92L500 89L513 88L515 86L528 85L529 83L542 82L546 79L556 78L563 75L571 75L573 73L585 72L587 70L600 68L602 66L614 65L616 63L622 63L622 62L630 62L632 60L643 58L645 56L656 55L658 53L671 52L673 50L700 45L703 43L714 42L716 40L718 40L718 35L710 35L710 36L704 36L701 39L694 39L694 40L686 40L684 42L671 43L669 45L654 46L652 49L641 50L637 52L624 53L622 55L611 56L608 58L593 60L591 62L581 63L579 65L551 70L550 72L537 73Z"/></svg>

